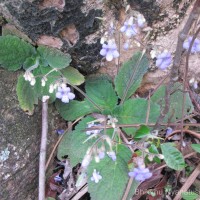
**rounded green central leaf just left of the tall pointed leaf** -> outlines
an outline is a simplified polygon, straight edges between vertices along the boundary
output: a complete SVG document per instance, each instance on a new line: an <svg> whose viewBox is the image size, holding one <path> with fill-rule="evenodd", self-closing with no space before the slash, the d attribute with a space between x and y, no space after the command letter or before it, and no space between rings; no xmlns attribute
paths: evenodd
<svg viewBox="0 0 200 200"><path fill-rule="evenodd" d="M92 99L105 114L110 114L117 105L117 96L112 83L105 76L90 77L86 80L86 94ZM91 106L93 106L91 104Z"/></svg>

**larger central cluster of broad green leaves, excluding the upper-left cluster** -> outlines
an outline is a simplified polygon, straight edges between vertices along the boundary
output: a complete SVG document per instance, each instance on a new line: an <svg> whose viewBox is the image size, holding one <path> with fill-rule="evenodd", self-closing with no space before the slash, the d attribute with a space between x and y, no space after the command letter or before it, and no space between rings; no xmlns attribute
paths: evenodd
<svg viewBox="0 0 200 200"><path fill-rule="evenodd" d="M117 118L118 124L144 124L148 115L148 108L150 108L148 123L155 123L160 115L160 106L164 101L165 87L161 87L152 96L151 100L130 98L138 89L143 75L147 72L148 65L147 57L141 52L137 52L128 62L122 65L114 80L114 87L106 76L89 77L85 83L86 98L83 101L72 101L69 104L56 101L56 107L60 115L65 120L70 121L91 113L100 113ZM180 88L180 85L176 87ZM177 109L176 99L179 98L179 104L181 105L181 94L180 90L176 90L171 95L170 112L165 121L169 117L172 121L181 118L181 109ZM189 96L186 99L185 114L189 114L193 106ZM85 133L87 123L93 120L95 120L94 117L86 116L75 127L74 131L64 135L58 148L58 158L61 159L68 154L72 166L83 160L88 148L96 141L95 138L88 140L88 135ZM139 129L133 127L123 127L122 129L135 141L151 136L150 129L145 125L142 125ZM113 131L112 128L106 129L106 134L111 136ZM93 169L100 171L103 177L98 184L88 178L89 192L92 199L103 199L105 192L108 199L121 199L126 188L128 161L131 158L131 152L128 147L121 144L118 136L115 141L119 141L114 147L117 157L116 162L106 157L100 163L93 160L87 168L88 177L92 176ZM109 149L106 149L106 151L109 151ZM164 155L166 164L172 169L181 170L185 167L182 154L171 143L165 143L157 147L152 143L149 152L158 154L159 151ZM159 162L158 158L157 160ZM129 195L134 194L138 184L136 181L133 182Z"/></svg>

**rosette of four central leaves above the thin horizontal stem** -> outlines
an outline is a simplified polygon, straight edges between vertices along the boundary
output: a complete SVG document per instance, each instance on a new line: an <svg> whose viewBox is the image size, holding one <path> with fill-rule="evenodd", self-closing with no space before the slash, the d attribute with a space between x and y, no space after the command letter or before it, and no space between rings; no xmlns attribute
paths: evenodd
<svg viewBox="0 0 200 200"><path fill-rule="evenodd" d="M85 99L64 104L56 101L56 107L66 120L75 120L94 112L111 115L120 124L145 123L148 100L143 98L130 99L140 86L143 75L148 69L148 59L141 52L123 64L115 78L114 86L106 76L90 77L85 82ZM156 122L160 107L150 102L149 122ZM127 134L134 134L135 129L125 128Z"/></svg>

